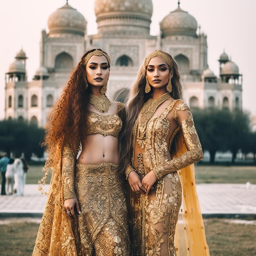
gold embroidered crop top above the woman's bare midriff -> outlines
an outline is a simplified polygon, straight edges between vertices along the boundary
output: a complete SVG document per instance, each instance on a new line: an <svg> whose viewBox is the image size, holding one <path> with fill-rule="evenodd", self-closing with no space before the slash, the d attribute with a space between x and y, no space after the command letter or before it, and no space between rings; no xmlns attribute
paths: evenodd
<svg viewBox="0 0 256 256"><path fill-rule="evenodd" d="M119 102L117 110L121 110L124 104ZM122 128L122 120L117 114L113 115L99 115L96 112L89 111L87 115L87 133L90 134L102 134L104 136L113 135L119 137L119 132Z"/></svg>

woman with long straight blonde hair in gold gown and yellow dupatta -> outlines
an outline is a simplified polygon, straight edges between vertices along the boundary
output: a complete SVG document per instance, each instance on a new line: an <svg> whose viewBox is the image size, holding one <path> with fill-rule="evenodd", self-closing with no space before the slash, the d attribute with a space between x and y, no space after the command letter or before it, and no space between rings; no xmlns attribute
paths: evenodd
<svg viewBox="0 0 256 256"><path fill-rule="evenodd" d="M209 255L193 165L202 147L171 55L146 57L131 88L121 145L132 256L179 255L175 228L182 201L187 255Z"/></svg>

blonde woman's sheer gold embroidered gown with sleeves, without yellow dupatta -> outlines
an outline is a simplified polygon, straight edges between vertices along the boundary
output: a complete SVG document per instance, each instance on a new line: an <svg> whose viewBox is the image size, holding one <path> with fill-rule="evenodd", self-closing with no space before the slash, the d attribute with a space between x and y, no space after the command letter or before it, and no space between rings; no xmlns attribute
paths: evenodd
<svg viewBox="0 0 256 256"><path fill-rule="evenodd" d="M172 119L171 123L170 116L176 122ZM175 226L182 203L177 171L202 159L202 148L192 114L182 100L162 103L146 124L143 139L138 137L140 125L137 119L132 136L133 168L126 168L126 176L135 170L143 178L153 170L157 182L148 195L132 192L128 187L132 256L176 256ZM171 159L173 154L169 151L178 131L182 133L187 151Z"/></svg>

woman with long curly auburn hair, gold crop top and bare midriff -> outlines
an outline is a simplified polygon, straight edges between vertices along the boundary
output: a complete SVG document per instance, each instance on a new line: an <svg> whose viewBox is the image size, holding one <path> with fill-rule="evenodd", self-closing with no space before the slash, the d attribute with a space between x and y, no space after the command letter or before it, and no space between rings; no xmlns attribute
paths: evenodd
<svg viewBox="0 0 256 256"><path fill-rule="evenodd" d="M49 117L41 182L53 173L33 256L129 255L125 186L117 173L124 104L105 95L109 72L106 52L85 53Z"/></svg>

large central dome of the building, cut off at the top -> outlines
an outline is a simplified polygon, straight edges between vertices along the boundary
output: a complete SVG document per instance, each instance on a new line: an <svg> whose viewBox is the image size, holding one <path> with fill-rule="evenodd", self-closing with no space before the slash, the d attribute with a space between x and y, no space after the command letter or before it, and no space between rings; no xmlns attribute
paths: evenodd
<svg viewBox="0 0 256 256"><path fill-rule="evenodd" d="M149 34L151 0L96 0L94 10L99 33Z"/></svg>

